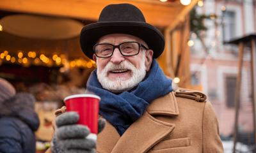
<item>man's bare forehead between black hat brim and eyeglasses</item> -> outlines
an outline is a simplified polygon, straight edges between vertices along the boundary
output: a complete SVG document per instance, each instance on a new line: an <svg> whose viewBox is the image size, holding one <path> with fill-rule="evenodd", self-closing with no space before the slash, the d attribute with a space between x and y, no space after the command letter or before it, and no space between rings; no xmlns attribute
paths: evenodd
<svg viewBox="0 0 256 153"><path fill-rule="evenodd" d="M102 36L97 43L122 43L124 41L138 41L140 43L145 43L143 40L136 36L130 34L107 34Z"/></svg>

